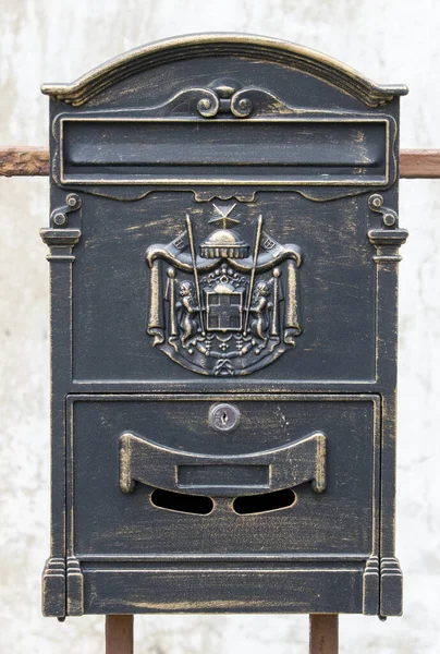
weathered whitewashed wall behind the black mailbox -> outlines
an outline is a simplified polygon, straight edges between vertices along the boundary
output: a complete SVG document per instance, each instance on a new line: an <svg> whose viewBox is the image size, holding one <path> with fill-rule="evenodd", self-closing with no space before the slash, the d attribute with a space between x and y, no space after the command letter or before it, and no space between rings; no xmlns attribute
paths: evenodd
<svg viewBox="0 0 440 654"><path fill-rule="evenodd" d="M0 143L47 143L41 82L70 82L124 50L194 32L297 41L376 82L406 83L404 147L440 147L440 4L435 0L0 0ZM48 181L0 180L0 652L98 654L102 619L44 619L48 554L48 265L38 229ZM342 617L341 652L440 651L440 180L403 181L398 554L405 615ZM307 651L307 618L138 617L136 653Z"/></svg>

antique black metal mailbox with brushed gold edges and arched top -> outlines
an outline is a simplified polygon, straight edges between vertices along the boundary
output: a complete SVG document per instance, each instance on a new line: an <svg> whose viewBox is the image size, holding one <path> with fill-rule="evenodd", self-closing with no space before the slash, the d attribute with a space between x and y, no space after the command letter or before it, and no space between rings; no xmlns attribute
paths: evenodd
<svg viewBox="0 0 440 654"><path fill-rule="evenodd" d="M399 615L406 88L213 34L42 90L45 614Z"/></svg>

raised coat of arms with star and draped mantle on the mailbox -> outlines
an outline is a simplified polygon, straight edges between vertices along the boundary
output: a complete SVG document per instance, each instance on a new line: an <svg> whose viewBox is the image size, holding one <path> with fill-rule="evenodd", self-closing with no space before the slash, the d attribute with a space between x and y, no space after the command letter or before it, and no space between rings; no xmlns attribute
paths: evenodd
<svg viewBox="0 0 440 654"><path fill-rule="evenodd" d="M169 244L146 252L150 268L147 332L154 346L201 375L248 375L295 346L300 336L297 245L281 245L258 216L254 243L230 217L236 204L213 205L219 217L197 246L193 220ZM234 229L231 229L234 226Z"/></svg>

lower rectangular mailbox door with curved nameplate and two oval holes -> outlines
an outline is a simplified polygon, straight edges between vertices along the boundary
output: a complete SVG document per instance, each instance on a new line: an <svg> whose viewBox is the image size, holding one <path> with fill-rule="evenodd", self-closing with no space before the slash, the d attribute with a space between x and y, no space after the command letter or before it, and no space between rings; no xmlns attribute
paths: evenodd
<svg viewBox="0 0 440 654"><path fill-rule="evenodd" d="M241 413L224 434L209 422L219 400ZM378 396L70 396L68 424L80 560L363 559L377 547Z"/></svg>

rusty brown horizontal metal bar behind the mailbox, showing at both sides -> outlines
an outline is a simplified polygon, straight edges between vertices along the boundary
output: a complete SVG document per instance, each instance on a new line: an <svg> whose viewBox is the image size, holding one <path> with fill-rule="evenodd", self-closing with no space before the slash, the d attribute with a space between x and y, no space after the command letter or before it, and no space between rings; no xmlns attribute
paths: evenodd
<svg viewBox="0 0 440 654"><path fill-rule="evenodd" d="M0 177L48 174L49 148L0 147ZM400 177L406 180L440 179L440 149L401 150Z"/></svg>

